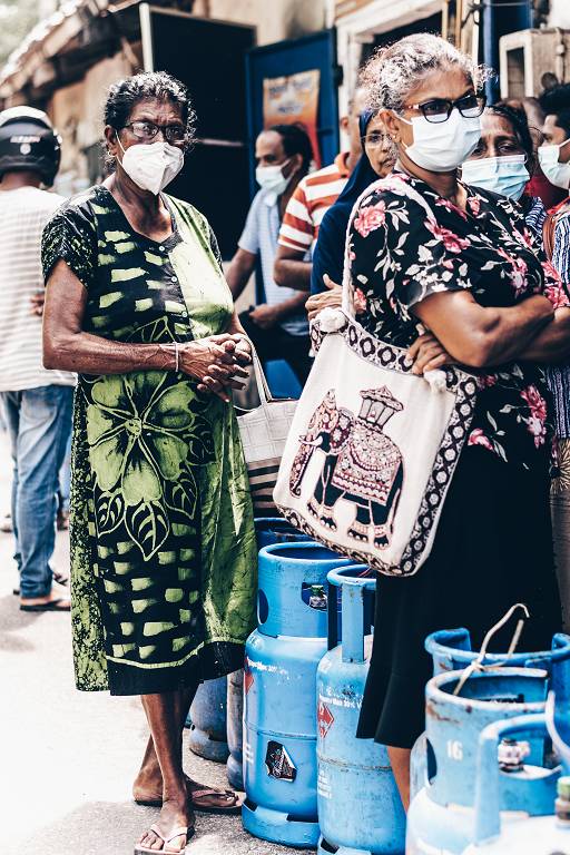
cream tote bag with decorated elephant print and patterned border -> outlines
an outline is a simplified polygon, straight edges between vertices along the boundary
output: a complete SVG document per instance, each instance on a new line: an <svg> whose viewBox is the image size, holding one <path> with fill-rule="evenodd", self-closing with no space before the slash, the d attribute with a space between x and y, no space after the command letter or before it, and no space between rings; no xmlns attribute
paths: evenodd
<svg viewBox="0 0 570 855"><path fill-rule="evenodd" d="M430 213L413 188L402 191ZM331 549L387 576L412 576L430 554L469 435L475 379L455 367L417 376L405 350L366 332L354 318L347 252L343 308L322 312L312 340L315 362L275 503Z"/></svg>

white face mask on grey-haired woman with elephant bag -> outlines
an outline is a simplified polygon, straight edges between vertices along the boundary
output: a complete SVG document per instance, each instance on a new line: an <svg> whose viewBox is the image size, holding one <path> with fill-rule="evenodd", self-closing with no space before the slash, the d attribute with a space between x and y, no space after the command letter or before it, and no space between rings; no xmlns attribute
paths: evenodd
<svg viewBox="0 0 570 855"><path fill-rule="evenodd" d="M456 107L446 121L428 121L424 116L414 116L409 121L396 116L414 131L414 141L405 149L407 157L430 173L452 173L474 151L481 138L481 117L465 119Z"/></svg>

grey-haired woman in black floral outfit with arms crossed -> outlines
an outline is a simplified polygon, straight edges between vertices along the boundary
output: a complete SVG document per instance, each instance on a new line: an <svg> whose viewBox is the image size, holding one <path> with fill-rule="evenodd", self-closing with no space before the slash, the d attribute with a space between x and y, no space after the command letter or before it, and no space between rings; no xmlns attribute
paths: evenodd
<svg viewBox="0 0 570 855"><path fill-rule="evenodd" d="M556 305L563 292L530 246L521 212L458 180L479 145L485 105L471 59L439 37L410 36L377 51L363 82L397 161L351 226L351 277L365 301L358 320L406 347L417 374L452 361L479 377L430 557L411 578L377 579L358 736L389 746L407 805L410 751L424 729L432 674L425 637L466 627L478 649L517 602L530 612L523 648L549 647L560 628L550 404L534 363L548 361L558 333L551 299ZM493 649L507 650L512 631L499 631Z"/></svg>

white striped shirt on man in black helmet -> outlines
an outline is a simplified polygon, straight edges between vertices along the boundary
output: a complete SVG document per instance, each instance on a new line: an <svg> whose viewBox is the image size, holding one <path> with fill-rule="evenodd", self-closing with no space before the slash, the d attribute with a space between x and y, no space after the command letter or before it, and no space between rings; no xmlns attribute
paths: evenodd
<svg viewBox="0 0 570 855"><path fill-rule="evenodd" d="M0 392L76 382L75 374L43 367L41 317L30 303L43 291L41 233L62 202L36 187L0 190Z"/></svg>

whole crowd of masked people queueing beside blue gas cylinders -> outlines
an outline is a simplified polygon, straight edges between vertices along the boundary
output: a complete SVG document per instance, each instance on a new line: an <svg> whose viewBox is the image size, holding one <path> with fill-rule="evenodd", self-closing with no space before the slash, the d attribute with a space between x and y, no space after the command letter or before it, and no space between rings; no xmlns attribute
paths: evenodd
<svg viewBox="0 0 570 855"><path fill-rule="evenodd" d="M239 809L235 793L185 776L180 739L198 684L240 667L255 625L254 519L230 394L252 344L306 381L309 321L338 306L343 276L360 324L407 348L416 374L456 364L478 375L431 554L413 578L377 580L357 736L389 746L404 806L425 636L465 626L480 645L514 602L530 612L527 649L569 627L570 86L487 106L484 75L443 39L412 36L362 70L342 119L350 150L334 164L309 171L304 129L266 128L261 189L226 272L206 218L164 193L195 131L178 81L148 72L111 87L108 177L69 200L41 189L59 156L49 119L0 116L0 391L20 605L69 609L50 560L77 376L76 682L141 696L150 733L134 796L161 810L136 853L181 852L196 810ZM13 144L22 124L41 150ZM258 262L263 299L237 314ZM41 354L31 305L43 281ZM35 537L30 517L45 520Z"/></svg>

